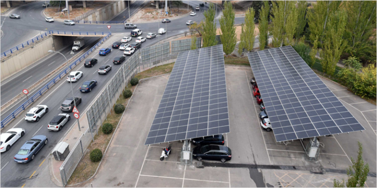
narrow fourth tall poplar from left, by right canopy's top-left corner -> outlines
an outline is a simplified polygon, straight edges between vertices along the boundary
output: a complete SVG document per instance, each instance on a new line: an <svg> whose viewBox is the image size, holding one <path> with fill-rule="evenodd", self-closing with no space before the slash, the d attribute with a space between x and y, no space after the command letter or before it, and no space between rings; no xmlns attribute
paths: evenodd
<svg viewBox="0 0 377 188"><path fill-rule="evenodd" d="M259 17L259 49L264 50L265 47L268 45L269 40L269 1L264 0L264 5L260 10L260 17Z"/></svg>

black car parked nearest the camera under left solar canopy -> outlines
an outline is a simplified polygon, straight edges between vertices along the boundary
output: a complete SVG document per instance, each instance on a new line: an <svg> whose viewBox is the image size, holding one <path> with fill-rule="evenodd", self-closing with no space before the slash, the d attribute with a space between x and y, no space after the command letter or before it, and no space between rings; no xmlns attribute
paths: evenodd
<svg viewBox="0 0 377 188"><path fill-rule="evenodd" d="M203 145L194 147L192 157L198 161L202 159L220 160L222 163L232 159L232 150L222 145Z"/></svg>

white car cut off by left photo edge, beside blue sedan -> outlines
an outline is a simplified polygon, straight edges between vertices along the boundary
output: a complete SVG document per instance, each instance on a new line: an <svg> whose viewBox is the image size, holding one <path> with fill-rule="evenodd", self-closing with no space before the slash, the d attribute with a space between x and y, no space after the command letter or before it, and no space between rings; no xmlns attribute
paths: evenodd
<svg viewBox="0 0 377 188"><path fill-rule="evenodd" d="M18 139L25 135L25 129L12 128L0 135L0 152L8 151Z"/></svg>

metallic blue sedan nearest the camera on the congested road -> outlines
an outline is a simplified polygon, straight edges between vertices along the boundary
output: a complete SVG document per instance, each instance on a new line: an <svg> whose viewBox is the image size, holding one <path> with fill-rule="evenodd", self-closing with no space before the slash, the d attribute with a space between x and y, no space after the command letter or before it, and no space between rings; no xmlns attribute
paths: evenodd
<svg viewBox="0 0 377 188"><path fill-rule="evenodd" d="M34 160L38 151L40 151L48 142L49 140L44 135L34 136L21 146L18 153L14 156L14 161L17 163L27 163Z"/></svg>

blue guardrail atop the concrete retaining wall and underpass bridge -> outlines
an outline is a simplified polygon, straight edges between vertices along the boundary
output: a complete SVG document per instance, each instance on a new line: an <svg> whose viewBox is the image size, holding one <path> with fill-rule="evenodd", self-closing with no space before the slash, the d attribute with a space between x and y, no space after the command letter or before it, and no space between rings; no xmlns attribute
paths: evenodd
<svg viewBox="0 0 377 188"><path fill-rule="evenodd" d="M36 37L28 40L27 42L25 43L22 43L16 47L12 47L11 49L8 49L4 52L1 53L1 57L5 57L9 54L12 54L14 52L16 52L17 50L20 50L24 47L27 47L28 45L31 45L41 39L43 39L43 37L47 37L49 35L52 35L52 34L65 34L65 35L105 35L107 32L94 32L94 31L54 31L54 30L50 30L50 31L47 31L43 34L40 34L40 35L37 35Z"/></svg>

